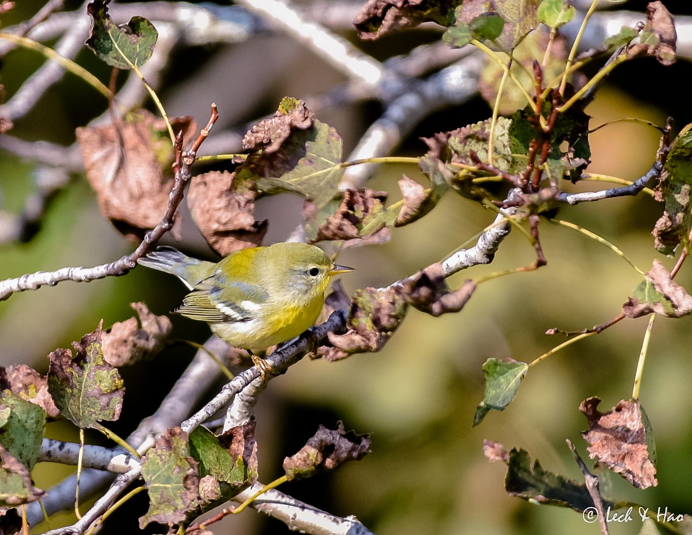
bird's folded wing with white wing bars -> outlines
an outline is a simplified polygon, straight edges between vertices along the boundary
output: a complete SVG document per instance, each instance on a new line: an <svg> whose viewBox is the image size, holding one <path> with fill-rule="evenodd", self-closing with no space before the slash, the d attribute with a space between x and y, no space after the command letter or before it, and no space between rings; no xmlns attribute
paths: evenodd
<svg viewBox="0 0 692 535"><path fill-rule="evenodd" d="M183 299L183 304L173 309L193 320L209 323L249 321L257 317L257 311L268 299L267 293L257 284L228 281L224 287L216 286L213 277L201 281Z"/></svg>

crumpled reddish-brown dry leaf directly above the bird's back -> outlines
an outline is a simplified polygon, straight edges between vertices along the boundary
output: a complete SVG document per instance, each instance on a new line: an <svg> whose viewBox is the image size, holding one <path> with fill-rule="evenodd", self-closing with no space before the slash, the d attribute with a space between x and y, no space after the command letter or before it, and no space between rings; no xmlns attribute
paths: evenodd
<svg viewBox="0 0 692 535"><path fill-rule="evenodd" d="M255 196L237 188L235 173L212 171L192 178L188 206L209 246L221 256L262 243L267 221L255 221Z"/></svg>

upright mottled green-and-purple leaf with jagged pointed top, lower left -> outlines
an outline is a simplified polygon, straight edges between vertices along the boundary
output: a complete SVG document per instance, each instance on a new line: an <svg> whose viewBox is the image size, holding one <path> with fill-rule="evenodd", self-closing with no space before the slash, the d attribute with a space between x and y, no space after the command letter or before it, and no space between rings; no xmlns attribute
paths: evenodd
<svg viewBox="0 0 692 535"><path fill-rule="evenodd" d="M118 370L103 358L101 326L85 334L70 350L55 350L48 359L48 390L64 417L80 428L95 427L100 420L117 420L125 388Z"/></svg>

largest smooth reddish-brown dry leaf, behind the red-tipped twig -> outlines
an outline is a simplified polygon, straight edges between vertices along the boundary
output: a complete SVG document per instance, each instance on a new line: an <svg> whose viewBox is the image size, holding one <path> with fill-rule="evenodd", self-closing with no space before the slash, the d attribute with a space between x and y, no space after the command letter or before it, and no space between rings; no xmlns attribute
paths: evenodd
<svg viewBox="0 0 692 535"><path fill-rule="evenodd" d="M185 138L197 129L188 117L172 125ZM161 220L173 186L164 174L173 156L165 124L142 111L118 125L78 128L77 139L101 213L127 237L142 239Z"/></svg>

